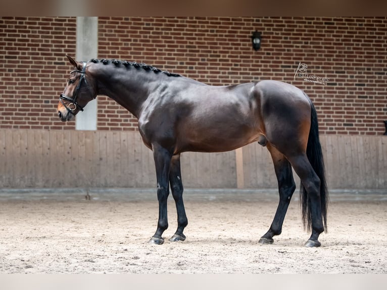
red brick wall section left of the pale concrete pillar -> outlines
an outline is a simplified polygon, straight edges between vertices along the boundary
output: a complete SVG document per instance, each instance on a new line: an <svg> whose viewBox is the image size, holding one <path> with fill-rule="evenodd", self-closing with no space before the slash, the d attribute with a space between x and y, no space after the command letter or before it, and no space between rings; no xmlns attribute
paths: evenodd
<svg viewBox="0 0 387 290"><path fill-rule="evenodd" d="M74 129L55 108L75 41L75 17L0 17L1 128Z"/></svg>

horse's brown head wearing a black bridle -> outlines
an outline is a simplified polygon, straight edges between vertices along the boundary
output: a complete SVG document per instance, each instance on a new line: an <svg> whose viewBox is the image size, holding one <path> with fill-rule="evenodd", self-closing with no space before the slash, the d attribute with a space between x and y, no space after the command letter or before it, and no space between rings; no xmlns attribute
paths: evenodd
<svg viewBox="0 0 387 290"><path fill-rule="evenodd" d="M63 122L74 120L75 115L83 111L86 104L96 97L94 83L90 82L90 78L86 78L86 63L77 62L67 55L66 57L74 66L74 70L70 72L66 87L59 98L58 116Z"/></svg>

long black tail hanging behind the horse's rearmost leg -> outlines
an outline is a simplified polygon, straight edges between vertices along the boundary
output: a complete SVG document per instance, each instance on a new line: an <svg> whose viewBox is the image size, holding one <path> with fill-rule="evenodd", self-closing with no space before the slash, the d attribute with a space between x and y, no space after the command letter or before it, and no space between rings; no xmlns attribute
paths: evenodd
<svg viewBox="0 0 387 290"><path fill-rule="evenodd" d="M317 112L312 101L307 96L309 103L311 105L312 114L311 114L311 125L309 130L308 144L306 148L306 155L310 164L312 165L313 170L320 178L320 200L321 200L321 216L324 222L324 228L326 231L326 213L328 209L328 188L326 186L325 179L325 169L324 169L324 159L322 156L321 144L318 134L318 121L317 121ZM312 228L312 213L310 198L308 192L305 190L304 185L300 186L300 203L302 206L302 220L304 228L311 230Z"/></svg>

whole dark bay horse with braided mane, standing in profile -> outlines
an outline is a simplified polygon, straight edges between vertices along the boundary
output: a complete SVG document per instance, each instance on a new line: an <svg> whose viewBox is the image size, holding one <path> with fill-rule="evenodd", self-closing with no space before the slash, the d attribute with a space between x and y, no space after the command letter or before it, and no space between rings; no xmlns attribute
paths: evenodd
<svg viewBox="0 0 387 290"><path fill-rule="evenodd" d="M68 59L75 69L60 96L59 118L73 120L89 101L105 94L138 119L142 140L153 151L159 220L150 243L164 243L169 186L178 222L169 240L185 240L180 153L224 152L258 141L271 154L279 189L274 220L260 243L272 244L281 233L296 188L293 167L301 178L304 227L312 231L304 246L321 245L328 191L316 110L301 89L273 80L210 86L145 64Z"/></svg>

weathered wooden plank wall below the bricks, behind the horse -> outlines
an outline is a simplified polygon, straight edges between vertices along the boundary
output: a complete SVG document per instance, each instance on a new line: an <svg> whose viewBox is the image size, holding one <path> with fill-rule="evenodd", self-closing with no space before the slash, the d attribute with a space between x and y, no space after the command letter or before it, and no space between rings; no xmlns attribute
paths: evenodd
<svg viewBox="0 0 387 290"><path fill-rule="evenodd" d="M320 139L329 188L387 188L386 136ZM266 148L253 143L241 153L245 188L277 187ZM235 156L183 153L184 186L236 188ZM138 132L0 129L0 158L1 187L156 187L153 154Z"/></svg>

